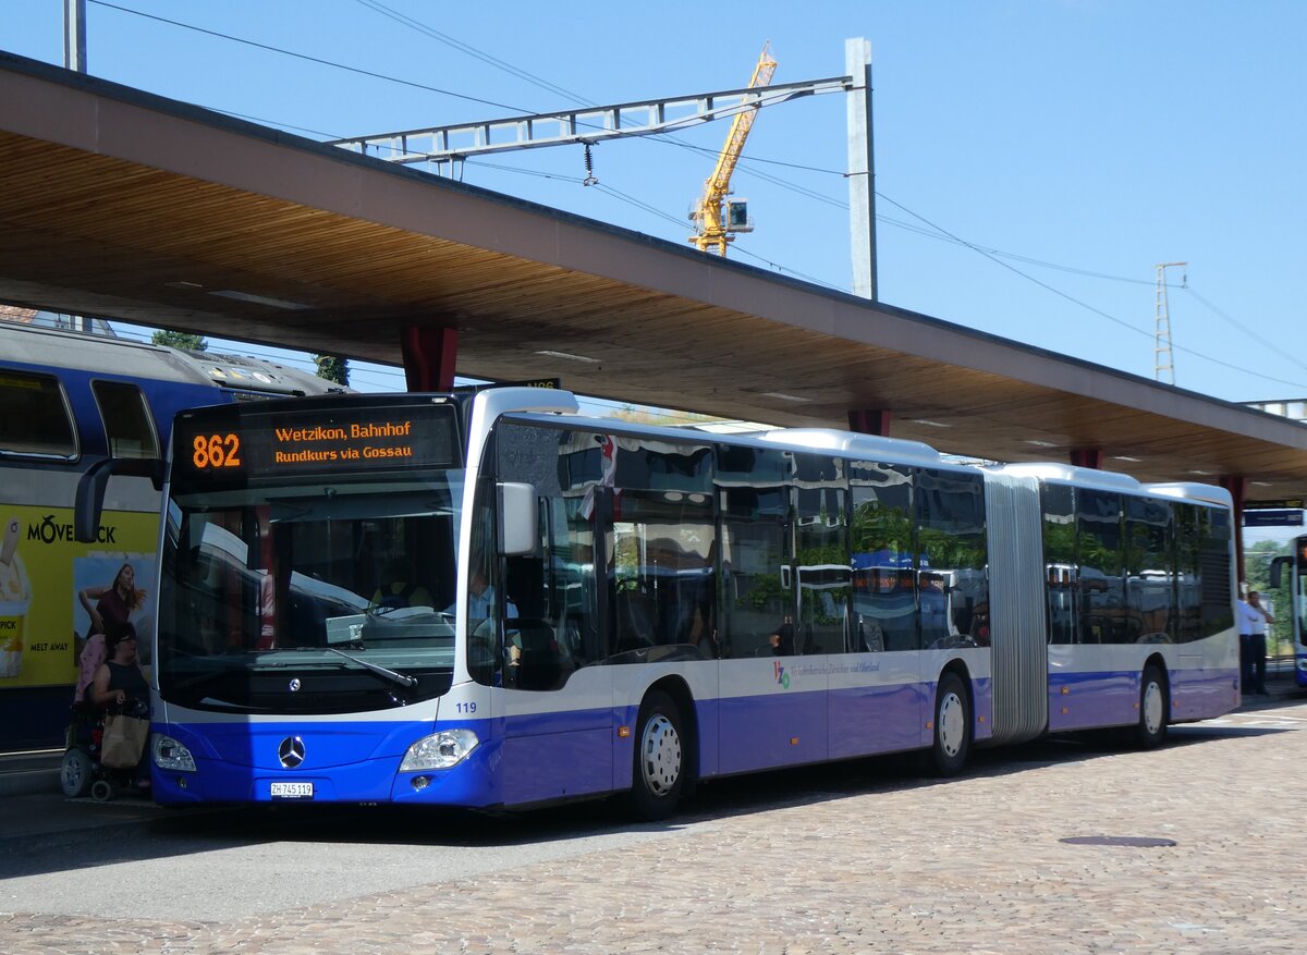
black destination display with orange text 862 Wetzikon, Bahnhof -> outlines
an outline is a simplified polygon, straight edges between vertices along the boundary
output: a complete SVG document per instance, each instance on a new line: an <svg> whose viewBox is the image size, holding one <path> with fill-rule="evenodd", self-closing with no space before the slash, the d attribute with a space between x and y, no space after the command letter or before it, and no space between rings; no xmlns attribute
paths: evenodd
<svg viewBox="0 0 1307 955"><path fill-rule="evenodd" d="M174 472L250 479L350 470L444 468L454 459L448 408L375 408L305 415L195 415L176 425Z"/></svg>

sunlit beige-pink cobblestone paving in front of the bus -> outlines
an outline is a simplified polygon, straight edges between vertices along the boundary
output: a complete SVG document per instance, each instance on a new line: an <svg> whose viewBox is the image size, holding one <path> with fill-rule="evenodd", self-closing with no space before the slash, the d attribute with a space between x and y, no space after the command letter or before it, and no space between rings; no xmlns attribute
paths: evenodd
<svg viewBox="0 0 1307 955"><path fill-rule="evenodd" d="M706 824L456 886L225 922L0 912L0 951L1297 955L1297 729L1307 704L1180 729L1155 753L987 754L948 783L859 763L850 792L822 771L788 805L706 796ZM1175 845L1061 841L1085 836Z"/></svg>

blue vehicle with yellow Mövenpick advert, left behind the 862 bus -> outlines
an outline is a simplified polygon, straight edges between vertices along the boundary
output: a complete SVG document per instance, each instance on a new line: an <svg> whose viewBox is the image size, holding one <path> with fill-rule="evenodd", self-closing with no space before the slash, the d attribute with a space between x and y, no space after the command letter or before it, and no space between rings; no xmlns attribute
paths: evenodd
<svg viewBox="0 0 1307 955"><path fill-rule="evenodd" d="M131 621L153 632L159 493L115 482L98 540L77 543L86 466L158 459L184 408L335 387L254 358L0 321L0 751L63 745L91 610L115 580L128 589L127 567Z"/></svg>

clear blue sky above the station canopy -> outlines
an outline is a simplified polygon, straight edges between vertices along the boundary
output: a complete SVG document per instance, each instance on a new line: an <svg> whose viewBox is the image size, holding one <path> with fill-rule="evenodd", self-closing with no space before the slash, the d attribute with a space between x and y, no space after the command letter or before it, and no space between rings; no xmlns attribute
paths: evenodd
<svg viewBox="0 0 1307 955"><path fill-rule="evenodd" d="M0 46L60 63L61 10L5 0ZM1276 0L91 0L88 59L329 138L738 88L765 40L776 82L838 76L865 37L884 302L1151 378L1155 265L1183 260L1176 384L1253 401L1307 397L1304 27L1307 4ZM681 243L725 131L600 144L603 189L580 184L579 148L485 157L464 180ZM732 257L848 289L844 166L842 95L762 111L733 180L758 229Z"/></svg>

